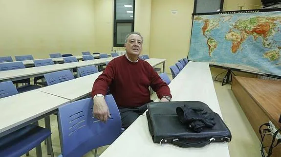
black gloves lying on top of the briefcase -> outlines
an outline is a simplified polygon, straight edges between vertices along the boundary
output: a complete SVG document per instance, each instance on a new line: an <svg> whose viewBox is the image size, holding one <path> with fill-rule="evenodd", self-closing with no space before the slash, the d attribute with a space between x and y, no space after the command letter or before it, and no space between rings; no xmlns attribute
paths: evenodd
<svg viewBox="0 0 281 157"><path fill-rule="evenodd" d="M214 117L209 116L202 108L192 108L186 105L176 107L180 122L189 126L195 132L201 132L204 127L214 127Z"/></svg>

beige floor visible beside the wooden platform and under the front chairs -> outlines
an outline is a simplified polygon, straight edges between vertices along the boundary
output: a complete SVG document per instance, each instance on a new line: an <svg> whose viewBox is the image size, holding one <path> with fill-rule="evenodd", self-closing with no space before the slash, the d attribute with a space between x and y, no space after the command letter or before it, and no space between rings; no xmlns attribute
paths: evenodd
<svg viewBox="0 0 281 157"><path fill-rule="evenodd" d="M169 75L172 79L172 76ZM260 157L259 151L259 139L252 129L249 121L243 113L240 105L238 104L233 92L231 91L231 85L221 86L220 82L214 82L216 89L217 99L221 108L223 119L232 133L232 141L229 145L229 153L231 157ZM151 100L155 100L156 93L153 93ZM58 156L61 152L60 141L58 134L57 117L51 115L51 131L52 142L55 156ZM41 126L44 126L43 120L39 122ZM98 149L98 155L106 150L108 146L104 146ZM46 145L42 144L43 157L50 157L46 154ZM29 157L36 157L35 149L30 151ZM25 156L22 156L25 157ZM87 153L85 157L94 157L94 150Z"/></svg>

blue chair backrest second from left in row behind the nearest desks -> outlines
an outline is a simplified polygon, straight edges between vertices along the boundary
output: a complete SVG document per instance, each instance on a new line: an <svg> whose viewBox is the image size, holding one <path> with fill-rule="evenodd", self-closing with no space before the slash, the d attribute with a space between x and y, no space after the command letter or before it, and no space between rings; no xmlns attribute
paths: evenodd
<svg viewBox="0 0 281 157"><path fill-rule="evenodd" d="M74 79L74 76L70 70L62 70L57 72L51 72L44 74L44 78L47 82L47 85L54 85L61 82Z"/></svg>

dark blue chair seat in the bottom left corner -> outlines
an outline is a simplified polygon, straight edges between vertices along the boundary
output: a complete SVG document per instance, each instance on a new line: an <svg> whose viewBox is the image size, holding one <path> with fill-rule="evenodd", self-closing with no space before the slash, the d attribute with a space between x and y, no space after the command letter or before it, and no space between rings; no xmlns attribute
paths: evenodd
<svg viewBox="0 0 281 157"><path fill-rule="evenodd" d="M20 157L50 135L50 130L29 124L0 138L0 157Z"/></svg>

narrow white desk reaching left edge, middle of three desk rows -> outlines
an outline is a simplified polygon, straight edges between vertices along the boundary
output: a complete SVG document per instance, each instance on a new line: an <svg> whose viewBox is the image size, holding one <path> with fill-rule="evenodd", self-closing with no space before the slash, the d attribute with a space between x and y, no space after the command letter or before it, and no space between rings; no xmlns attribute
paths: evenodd
<svg viewBox="0 0 281 157"><path fill-rule="evenodd" d="M7 71L0 71L0 80L17 80L17 78L22 77L30 77L32 75L44 74L53 71L59 70L66 70L72 69L75 66L68 65L68 64L55 64L49 66L42 66L42 67L32 67L32 68L25 68L25 69L17 69L17 70L7 70Z"/></svg>

